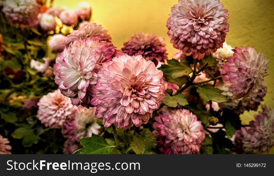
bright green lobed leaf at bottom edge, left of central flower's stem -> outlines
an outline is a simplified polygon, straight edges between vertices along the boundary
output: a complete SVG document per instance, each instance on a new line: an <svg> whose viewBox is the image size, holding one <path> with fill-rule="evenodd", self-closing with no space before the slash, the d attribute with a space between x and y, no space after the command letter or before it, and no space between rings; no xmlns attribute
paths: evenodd
<svg viewBox="0 0 274 176"><path fill-rule="evenodd" d="M111 149L115 148L110 145L100 135L93 134L92 137L83 137L80 139L82 149L76 150L73 154L111 154Z"/></svg>

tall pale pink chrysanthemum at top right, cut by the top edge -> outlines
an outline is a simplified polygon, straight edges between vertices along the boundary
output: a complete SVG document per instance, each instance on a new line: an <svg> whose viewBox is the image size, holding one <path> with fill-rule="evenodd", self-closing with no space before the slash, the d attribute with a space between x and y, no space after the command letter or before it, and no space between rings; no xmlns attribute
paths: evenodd
<svg viewBox="0 0 274 176"><path fill-rule="evenodd" d="M220 0L179 0L171 8L168 35L174 48L202 59L222 47L229 24Z"/></svg>

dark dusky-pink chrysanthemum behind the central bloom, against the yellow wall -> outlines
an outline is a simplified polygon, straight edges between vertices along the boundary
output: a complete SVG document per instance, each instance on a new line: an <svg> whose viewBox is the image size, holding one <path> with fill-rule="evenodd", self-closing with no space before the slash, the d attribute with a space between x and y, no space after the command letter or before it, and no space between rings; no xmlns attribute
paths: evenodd
<svg viewBox="0 0 274 176"><path fill-rule="evenodd" d="M163 37L139 32L124 43L122 51L130 56L142 55L146 60L151 60L157 66L158 62L163 64L168 59L165 46Z"/></svg>

